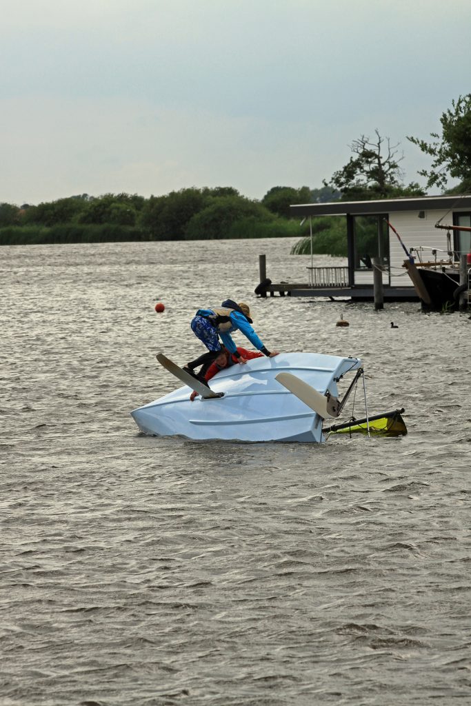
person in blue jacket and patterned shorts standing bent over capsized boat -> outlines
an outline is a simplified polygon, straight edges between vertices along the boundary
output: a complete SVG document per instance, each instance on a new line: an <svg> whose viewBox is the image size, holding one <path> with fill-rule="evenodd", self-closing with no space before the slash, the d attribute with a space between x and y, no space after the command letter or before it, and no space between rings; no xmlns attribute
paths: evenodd
<svg viewBox="0 0 471 706"><path fill-rule="evenodd" d="M184 371L207 385L205 374L221 352L219 339L222 340L229 354L234 355L239 363L246 363L244 356L237 352L237 347L231 337L231 333L237 330L243 333L263 355L269 358L278 355L278 351L270 353L266 346L263 345L251 324L249 305L244 304L244 302L236 304L232 299L226 299L220 307L215 309L198 309L191 320L191 330L205 345L208 352L186 364ZM196 368L200 368L198 374L195 373Z"/></svg>

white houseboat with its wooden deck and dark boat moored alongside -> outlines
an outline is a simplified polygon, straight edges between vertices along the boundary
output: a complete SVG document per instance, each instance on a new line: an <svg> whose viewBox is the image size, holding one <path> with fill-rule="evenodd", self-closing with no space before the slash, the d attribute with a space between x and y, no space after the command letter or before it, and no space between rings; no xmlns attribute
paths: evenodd
<svg viewBox="0 0 471 706"><path fill-rule="evenodd" d="M292 205L290 212L311 226L317 216L345 217L348 264L318 268L311 257L305 284L265 280L258 294L372 301L379 267L384 301L421 301L424 309L439 310L455 304L457 263L471 252L471 195L305 203ZM455 227L449 234L446 223Z"/></svg>

